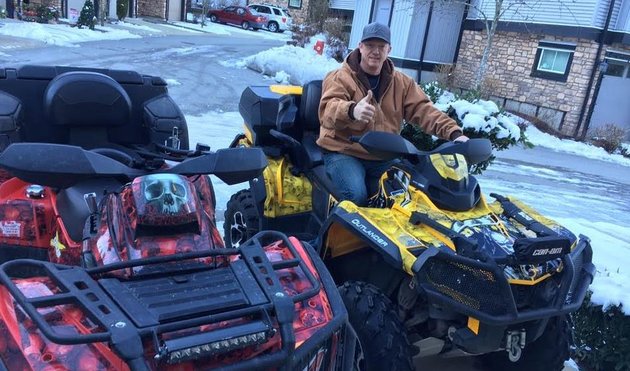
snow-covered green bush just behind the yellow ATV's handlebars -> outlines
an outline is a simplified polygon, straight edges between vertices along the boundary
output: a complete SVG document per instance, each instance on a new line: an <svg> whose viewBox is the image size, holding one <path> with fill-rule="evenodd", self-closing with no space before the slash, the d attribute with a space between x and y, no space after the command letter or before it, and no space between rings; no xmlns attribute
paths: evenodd
<svg viewBox="0 0 630 371"><path fill-rule="evenodd" d="M502 112L493 101L482 99L468 101L443 89L436 82L426 84L423 90L435 107L455 120L469 138L488 138L492 142L492 147L498 151L517 144L532 146L525 136L525 126L519 125L513 116ZM421 150L431 150L444 142L425 134L413 125L405 125L402 134ZM494 156L489 161L477 165L472 171L480 173L492 160Z"/></svg>

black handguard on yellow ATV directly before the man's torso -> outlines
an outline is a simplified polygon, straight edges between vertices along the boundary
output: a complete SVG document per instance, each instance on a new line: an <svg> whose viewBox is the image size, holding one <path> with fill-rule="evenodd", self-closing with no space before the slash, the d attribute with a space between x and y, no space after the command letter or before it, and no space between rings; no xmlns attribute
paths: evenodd
<svg viewBox="0 0 630 371"><path fill-rule="evenodd" d="M352 140L358 142L370 154L383 160L392 160L420 153L410 141L394 133L370 131L358 140L356 138L352 138Z"/></svg>

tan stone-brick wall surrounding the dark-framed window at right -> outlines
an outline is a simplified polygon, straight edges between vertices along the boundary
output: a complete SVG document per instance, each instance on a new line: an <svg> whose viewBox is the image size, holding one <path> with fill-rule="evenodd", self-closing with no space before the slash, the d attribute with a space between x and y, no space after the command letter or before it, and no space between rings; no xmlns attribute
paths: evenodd
<svg viewBox="0 0 630 371"><path fill-rule="evenodd" d="M566 82L530 76L541 40L576 44ZM485 38L481 32L464 31L455 73L456 85L471 87L484 45ZM508 109L527 111L530 116L530 113L534 113L560 133L573 136L596 52L597 43L591 40L497 32L486 77L490 80L494 95L508 100Z"/></svg>

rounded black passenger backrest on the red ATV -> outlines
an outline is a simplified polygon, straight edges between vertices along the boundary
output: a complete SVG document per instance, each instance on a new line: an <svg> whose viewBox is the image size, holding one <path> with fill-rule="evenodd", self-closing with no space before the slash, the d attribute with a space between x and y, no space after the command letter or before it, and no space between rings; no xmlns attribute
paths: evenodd
<svg viewBox="0 0 630 371"><path fill-rule="evenodd" d="M67 143L86 149L118 143L110 128L127 126L131 99L109 76L71 71L56 76L44 93L49 122L67 129Z"/></svg>

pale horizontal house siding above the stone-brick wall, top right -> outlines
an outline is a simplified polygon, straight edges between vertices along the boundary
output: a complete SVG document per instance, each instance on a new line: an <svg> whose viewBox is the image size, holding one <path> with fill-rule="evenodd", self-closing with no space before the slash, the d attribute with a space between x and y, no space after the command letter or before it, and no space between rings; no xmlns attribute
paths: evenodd
<svg viewBox="0 0 630 371"><path fill-rule="evenodd" d="M600 2L609 0L540 0L528 1L531 7L518 5L510 1L505 1L504 8L509 4L513 5L501 17L505 22L528 22L528 23L549 23L559 25L571 25L582 27L603 27L601 24L594 24L599 16L595 16L595 10L599 8ZM494 17L495 0L479 0L478 9L486 14L489 20ZM468 19L483 20L483 16L476 10L469 12ZM604 14L605 19L605 14ZM599 22L599 21L598 21Z"/></svg>

